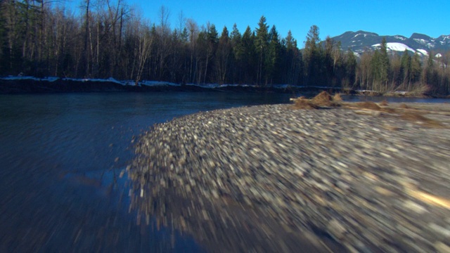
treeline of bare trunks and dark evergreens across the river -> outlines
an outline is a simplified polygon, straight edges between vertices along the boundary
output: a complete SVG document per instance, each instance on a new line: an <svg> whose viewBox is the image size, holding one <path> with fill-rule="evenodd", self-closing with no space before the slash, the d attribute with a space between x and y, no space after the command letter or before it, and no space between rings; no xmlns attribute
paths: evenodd
<svg viewBox="0 0 450 253"><path fill-rule="evenodd" d="M142 79L179 84L291 84L374 91L450 93L450 53L390 54L385 41L359 58L311 26L304 48L262 16L255 30L199 26L169 11L150 23L124 0L80 1L77 15L50 0L4 0L0 75ZM172 28L174 27L174 28Z"/></svg>

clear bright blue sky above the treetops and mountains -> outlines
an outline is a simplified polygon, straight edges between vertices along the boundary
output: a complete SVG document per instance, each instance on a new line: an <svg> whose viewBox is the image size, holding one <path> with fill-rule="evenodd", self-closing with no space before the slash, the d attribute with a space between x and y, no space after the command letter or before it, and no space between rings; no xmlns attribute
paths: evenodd
<svg viewBox="0 0 450 253"><path fill-rule="evenodd" d="M112 0L115 1L115 0ZM240 33L250 25L252 30L262 15L268 25L276 25L282 37L293 32L300 47L311 25L317 25L321 39L347 31L364 30L380 35L404 35L413 32L439 37L450 34L450 0L124 0L136 6L150 22L159 22L160 8L169 10L169 22L178 27L179 13L192 18L199 26L208 21L219 34L224 25L229 31L236 22Z"/></svg>

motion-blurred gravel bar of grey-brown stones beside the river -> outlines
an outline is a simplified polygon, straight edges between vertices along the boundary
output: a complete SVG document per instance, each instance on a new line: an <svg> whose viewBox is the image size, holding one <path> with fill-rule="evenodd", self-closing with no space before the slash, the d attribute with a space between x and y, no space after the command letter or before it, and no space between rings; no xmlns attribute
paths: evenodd
<svg viewBox="0 0 450 253"><path fill-rule="evenodd" d="M130 208L207 252L449 252L448 112L261 105L156 124L127 168Z"/></svg>

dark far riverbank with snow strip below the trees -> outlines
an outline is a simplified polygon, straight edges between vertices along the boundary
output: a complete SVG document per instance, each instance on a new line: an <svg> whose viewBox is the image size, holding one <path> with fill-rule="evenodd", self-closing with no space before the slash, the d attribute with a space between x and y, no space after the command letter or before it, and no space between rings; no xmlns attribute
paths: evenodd
<svg viewBox="0 0 450 253"><path fill-rule="evenodd" d="M448 98L448 96L432 96L423 93L378 93L375 91L358 91L328 86L255 86L239 84L174 84L169 82L143 81L135 85L132 81L110 79L65 79L58 77L38 79L34 77L0 78L0 94L23 93L73 93L73 92L162 92L162 91L217 91L247 93L299 93L303 96L316 96L321 91L359 96L396 96L406 98Z"/></svg>

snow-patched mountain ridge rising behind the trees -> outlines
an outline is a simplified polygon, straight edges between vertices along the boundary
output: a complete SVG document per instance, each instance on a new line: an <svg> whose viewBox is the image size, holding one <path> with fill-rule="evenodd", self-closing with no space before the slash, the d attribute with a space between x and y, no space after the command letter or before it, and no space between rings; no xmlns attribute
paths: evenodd
<svg viewBox="0 0 450 253"><path fill-rule="evenodd" d="M421 56L428 56L432 51L435 54L450 51L450 35L442 35L437 38L429 37L425 34L413 33L407 38L402 35L380 36L373 32L345 32L333 37L335 41L341 41L342 50L350 48L355 53L363 53L366 50L380 48L383 37L386 38L386 46L389 51L402 52L405 49L411 53L419 53Z"/></svg>

